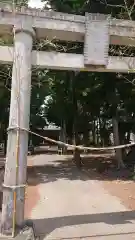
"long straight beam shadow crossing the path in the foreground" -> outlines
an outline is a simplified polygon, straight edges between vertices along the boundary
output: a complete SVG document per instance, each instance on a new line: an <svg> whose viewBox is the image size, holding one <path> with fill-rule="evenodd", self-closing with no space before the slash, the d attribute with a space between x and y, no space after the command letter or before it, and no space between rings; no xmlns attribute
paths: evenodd
<svg viewBox="0 0 135 240"><path fill-rule="evenodd" d="M105 223L109 225L117 224L132 224L132 221L135 220L135 211L126 211L126 212L110 212L110 213L99 213L99 214L88 214L88 215L73 215L73 216L63 216L56 218L47 218L47 219L34 219L33 223L35 225L35 231L37 235L41 236L41 239L46 237L48 234L53 232L57 228L62 228L65 226L75 226L82 224L92 224L92 223ZM124 229L124 226L123 226ZM92 235L84 236L87 237L97 237L97 236L109 236L109 235L128 235L133 234L130 232L118 234L109 234L108 235ZM135 234L135 232L134 232ZM81 236L81 238L83 238ZM65 239L65 238L64 238ZM68 239L68 237L67 237Z"/></svg>

